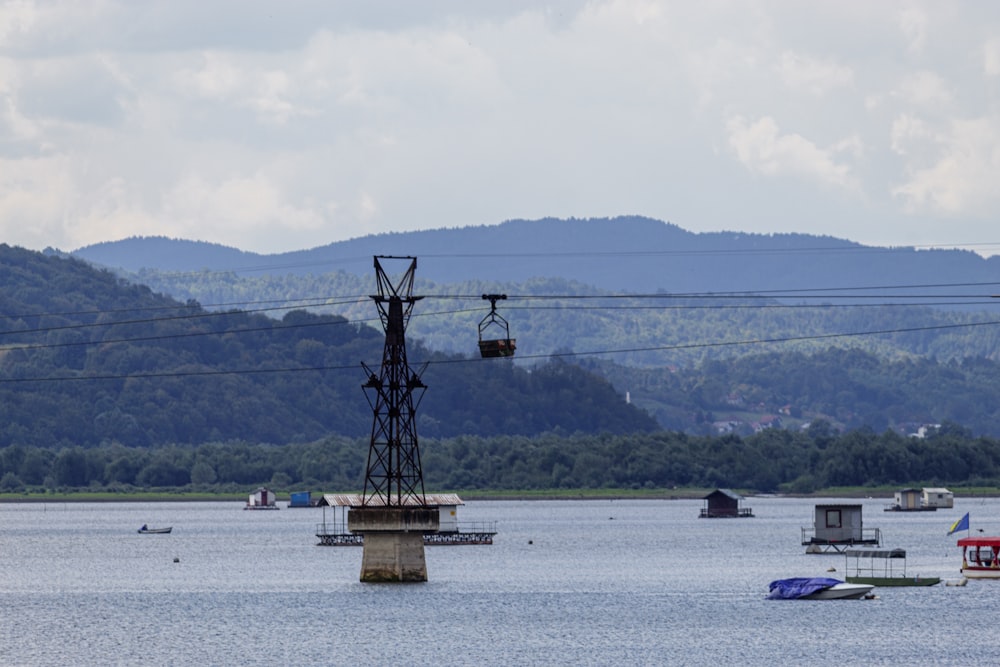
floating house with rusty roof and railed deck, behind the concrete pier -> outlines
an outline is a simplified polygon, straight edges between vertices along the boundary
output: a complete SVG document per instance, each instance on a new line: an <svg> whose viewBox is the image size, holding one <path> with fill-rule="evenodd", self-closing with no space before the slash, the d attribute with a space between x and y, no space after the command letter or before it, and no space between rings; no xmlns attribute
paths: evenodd
<svg viewBox="0 0 1000 667"><path fill-rule="evenodd" d="M436 533L424 535L427 546L463 545L463 544L493 544L496 535L495 521L480 521L459 524L458 506L465 503L457 494L439 493L424 496L428 505L439 508L440 520ZM347 515L352 507L361 507L360 494L325 494L319 501L323 507L323 523L316 524L316 537L319 546L324 547L354 547L364 545L364 536L352 533L347 528ZM332 507L339 516L334 515L332 522L326 520L326 508Z"/></svg>

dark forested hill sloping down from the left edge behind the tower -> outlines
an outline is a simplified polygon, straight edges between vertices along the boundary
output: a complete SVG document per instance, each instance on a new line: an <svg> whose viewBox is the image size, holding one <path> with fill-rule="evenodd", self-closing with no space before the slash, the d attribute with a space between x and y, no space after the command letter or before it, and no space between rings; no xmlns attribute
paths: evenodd
<svg viewBox="0 0 1000 667"><path fill-rule="evenodd" d="M384 344L371 327L301 310L208 312L6 245L0 284L0 447L288 443L371 428L360 364L377 367ZM578 367L528 372L410 347L411 360L432 362L424 435L656 428Z"/></svg>

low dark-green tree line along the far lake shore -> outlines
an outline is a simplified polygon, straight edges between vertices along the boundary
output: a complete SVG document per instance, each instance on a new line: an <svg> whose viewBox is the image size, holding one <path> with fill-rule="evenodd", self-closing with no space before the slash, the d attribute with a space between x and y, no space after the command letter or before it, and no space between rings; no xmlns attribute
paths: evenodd
<svg viewBox="0 0 1000 667"><path fill-rule="evenodd" d="M1000 440L947 423L923 438L871 429L841 433L821 421L747 437L660 431L424 438L420 450L428 492L1000 486ZM365 439L339 436L284 445L13 445L0 450L0 492L244 492L259 485L279 492L360 491L367 453Z"/></svg>

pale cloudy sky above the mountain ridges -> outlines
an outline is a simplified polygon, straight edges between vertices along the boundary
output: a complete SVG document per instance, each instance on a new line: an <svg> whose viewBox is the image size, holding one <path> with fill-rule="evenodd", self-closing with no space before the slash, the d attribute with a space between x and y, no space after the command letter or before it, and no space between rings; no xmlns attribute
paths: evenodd
<svg viewBox="0 0 1000 667"><path fill-rule="evenodd" d="M9 245L642 215L991 255L998 211L1000 3L0 0Z"/></svg>

